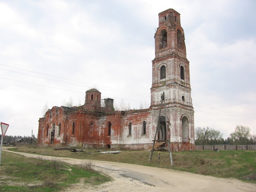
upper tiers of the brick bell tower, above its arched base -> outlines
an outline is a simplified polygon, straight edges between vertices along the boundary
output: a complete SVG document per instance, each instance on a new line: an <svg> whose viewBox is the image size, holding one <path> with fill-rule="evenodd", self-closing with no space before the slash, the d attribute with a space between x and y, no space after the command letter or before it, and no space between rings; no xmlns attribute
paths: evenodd
<svg viewBox="0 0 256 192"><path fill-rule="evenodd" d="M173 9L158 14L155 58L152 61L151 106L160 104L160 94L166 92L166 104L190 102L189 61L186 58L184 30L180 14Z"/></svg>

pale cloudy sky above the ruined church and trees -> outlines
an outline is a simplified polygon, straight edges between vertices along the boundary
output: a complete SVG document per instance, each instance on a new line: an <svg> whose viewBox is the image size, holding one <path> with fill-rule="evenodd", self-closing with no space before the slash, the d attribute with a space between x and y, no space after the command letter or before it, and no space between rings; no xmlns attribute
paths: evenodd
<svg viewBox="0 0 256 192"><path fill-rule="evenodd" d="M84 104L97 88L150 105L158 13L181 14L195 127L256 133L256 1L0 0L0 121L38 132L44 106Z"/></svg>

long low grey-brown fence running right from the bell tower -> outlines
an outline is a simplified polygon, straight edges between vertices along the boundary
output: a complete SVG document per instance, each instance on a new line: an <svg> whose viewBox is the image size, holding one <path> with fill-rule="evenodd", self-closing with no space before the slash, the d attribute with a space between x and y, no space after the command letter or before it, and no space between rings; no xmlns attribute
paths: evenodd
<svg viewBox="0 0 256 192"><path fill-rule="evenodd" d="M195 150L256 150L256 145L196 145Z"/></svg>

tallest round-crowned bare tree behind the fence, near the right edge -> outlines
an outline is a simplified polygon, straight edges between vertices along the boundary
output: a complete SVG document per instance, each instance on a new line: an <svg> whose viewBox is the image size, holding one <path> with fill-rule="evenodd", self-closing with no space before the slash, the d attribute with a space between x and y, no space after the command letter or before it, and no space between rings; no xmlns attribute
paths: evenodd
<svg viewBox="0 0 256 192"><path fill-rule="evenodd" d="M234 132L230 134L230 137L237 144L246 144L250 136L250 128L248 126L238 125L236 126Z"/></svg>

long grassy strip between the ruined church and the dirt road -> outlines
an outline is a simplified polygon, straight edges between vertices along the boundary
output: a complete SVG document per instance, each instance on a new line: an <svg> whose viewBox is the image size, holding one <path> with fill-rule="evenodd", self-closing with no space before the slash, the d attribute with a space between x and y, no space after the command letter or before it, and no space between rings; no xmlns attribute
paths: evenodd
<svg viewBox="0 0 256 192"><path fill-rule="evenodd" d="M157 151L153 153L152 160L149 161L150 151L122 150L122 153L119 154L102 154L98 153L100 150L97 149L85 149L84 152L70 152L66 150L53 150L53 148L19 147L12 148L12 150L48 156L123 162L154 167L159 166L160 168L220 178L236 178L247 182L256 182L255 150L172 152L173 166L170 164L168 152L160 152L160 161L158 164L159 154Z"/></svg>

